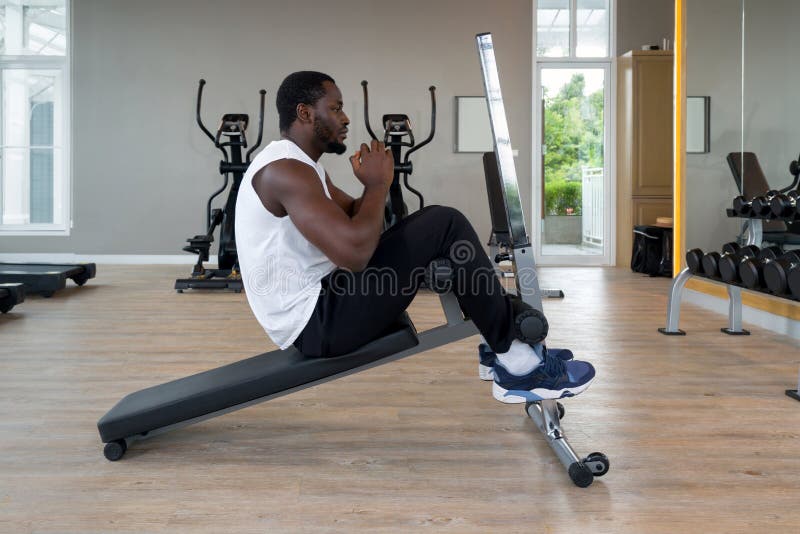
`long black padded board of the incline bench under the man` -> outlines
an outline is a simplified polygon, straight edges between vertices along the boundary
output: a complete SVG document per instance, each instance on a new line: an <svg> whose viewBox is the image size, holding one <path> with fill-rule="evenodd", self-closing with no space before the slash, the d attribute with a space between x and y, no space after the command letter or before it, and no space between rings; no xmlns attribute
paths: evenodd
<svg viewBox="0 0 800 534"><path fill-rule="evenodd" d="M278 396L415 347L408 315L387 334L350 354L309 358L294 348L267 352L210 371L131 393L97 423L104 443Z"/></svg>

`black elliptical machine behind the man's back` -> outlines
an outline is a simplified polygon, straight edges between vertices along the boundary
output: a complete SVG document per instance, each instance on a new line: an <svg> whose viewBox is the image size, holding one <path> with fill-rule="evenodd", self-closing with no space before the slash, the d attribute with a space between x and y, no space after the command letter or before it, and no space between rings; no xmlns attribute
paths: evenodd
<svg viewBox="0 0 800 534"><path fill-rule="evenodd" d="M206 204L206 233L190 237L186 241L189 243L183 250L197 254L197 263L192 269L191 278L179 278L175 280L175 289L178 293L183 293L184 289L230 289L236 293L241 293L244 288L242 275L239 273L239 258L236 254L236 236L234 226L236 221L236 195L239 192L239 184L242 177L250 166L250 155L261 145L261 137L264 132L264 97L267 92L264 89L259 91L261 95L261 110L258 117L258 139L256 144L247 151L244 160L242 150L247 148L247 136L245 131L250 118L244 113L226 113L222 116L216 135L203 125L200 117L200 106L203 100L203 87L206 81L201 79L197 88L197 125L205 133L214 146L222 152L222 161L219 162L219 172L224 177L222 187L214 191L208 198ZM212 201L221 195L228 188L230 175L233 175L233 183L228 193L224 209L211 208ZM217 252L217 268L207 269L203 266L204 261L208 261L211 243L214 242L214 231L220 227L219 250Z"/></svg>

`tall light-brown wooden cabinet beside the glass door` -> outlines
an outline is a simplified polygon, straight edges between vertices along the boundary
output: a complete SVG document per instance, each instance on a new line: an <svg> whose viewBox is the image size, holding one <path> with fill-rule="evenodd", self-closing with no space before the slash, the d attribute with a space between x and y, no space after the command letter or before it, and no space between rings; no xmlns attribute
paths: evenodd
<svg viewBox="0 0 800 534"><path fill-rule="evenodd" d="M617 265L630 265L633 226L672 217L673 55L617 61Z"/></svg>

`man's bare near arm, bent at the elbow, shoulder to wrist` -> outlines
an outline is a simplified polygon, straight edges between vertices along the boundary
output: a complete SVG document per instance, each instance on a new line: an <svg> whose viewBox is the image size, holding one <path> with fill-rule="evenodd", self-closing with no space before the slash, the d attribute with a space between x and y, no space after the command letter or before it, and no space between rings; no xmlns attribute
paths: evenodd
<svg viewBox="0 0 800 534"><path fill-rule="evenodd" d="M325 196L314 169L297 160L270 163L255 175L253 187L264 207L278 216L288 214L300 233L334 264L352 271L366 267L380 239L388 183L365 186L352 217ZM342 195L352 202L349 195Z"/></svg>

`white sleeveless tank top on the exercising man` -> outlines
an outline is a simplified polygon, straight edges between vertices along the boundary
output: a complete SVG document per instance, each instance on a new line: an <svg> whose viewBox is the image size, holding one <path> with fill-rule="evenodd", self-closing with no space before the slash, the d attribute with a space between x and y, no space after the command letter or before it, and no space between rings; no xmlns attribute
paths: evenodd
<svg viewBox="0 0 800 534"><path fill-rule="evenodd" d="M325 195L325 169L288 139L266 146L247 169L236 199L236 251L247 301L272 341L288 348L317 304L320 280L336 269L288 215L276 217L253 188L253 176L281 159L296 159L317 171Z"/></svg>

